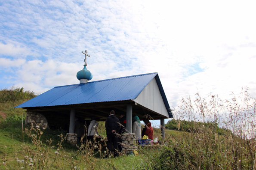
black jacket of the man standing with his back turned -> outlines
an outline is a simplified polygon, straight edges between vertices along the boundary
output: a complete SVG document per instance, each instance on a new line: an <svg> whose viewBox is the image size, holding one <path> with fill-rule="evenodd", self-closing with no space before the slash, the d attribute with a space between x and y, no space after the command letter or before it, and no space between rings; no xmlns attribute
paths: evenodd
<svg viewBox="0 0 256 170"><path fill-rule="evenodd" d="M105 122L105 128L106 134L112 134L112 130L118 132L121 128L119 119L114 114L109 115Z"/></svg>

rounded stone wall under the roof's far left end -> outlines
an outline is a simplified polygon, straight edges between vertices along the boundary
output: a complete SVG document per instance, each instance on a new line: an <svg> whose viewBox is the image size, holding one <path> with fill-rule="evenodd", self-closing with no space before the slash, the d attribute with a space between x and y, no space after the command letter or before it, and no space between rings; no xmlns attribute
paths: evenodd
<svg viewBox="0 0 256 170"><path fill-rule="evenodd" d="M32 125L33 127L39 126L40 128L49 128L47 119L43 114L28 111L27 116L25 118L25 124L26 125Z"/></svg>

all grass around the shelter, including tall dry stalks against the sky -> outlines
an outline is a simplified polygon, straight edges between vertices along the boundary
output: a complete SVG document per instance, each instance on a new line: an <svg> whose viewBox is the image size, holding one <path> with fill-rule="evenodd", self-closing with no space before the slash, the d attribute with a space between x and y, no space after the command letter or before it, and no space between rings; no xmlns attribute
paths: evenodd
<svg viewBox="0 0 256 170"><path fill-rule="evenodd" d="M255 170L256 98L250 98L246 89L231 101L223 102L217 95L208 99L199 94L196 97L194 101L183 98L178 110L173 110L176 120L171 124L179 131L166 130L165 146L139 147L139 155L108 159L104 158L104 150L95 151L94 146L70 146L58 137L64 131L30 127L22 131L25 114L12 109L15 102L22 100L1 103L0 110L6 111L7 117L0 122L0 169ZM221 119L221 112L225 119ZM185 117L189 120L183 121ZM104 122L99 124L99 133L105 136ZM154 137L163 140L159 128L154 128Z"/></svg>

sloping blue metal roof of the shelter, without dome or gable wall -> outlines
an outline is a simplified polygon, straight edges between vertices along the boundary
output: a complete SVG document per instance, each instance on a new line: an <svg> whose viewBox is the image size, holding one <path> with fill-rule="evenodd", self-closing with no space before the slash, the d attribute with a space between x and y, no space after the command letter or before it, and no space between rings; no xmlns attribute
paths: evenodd
<svg viewBox="0 0 256 170"><path fill-rule="evenodd" d="M56 86L47 92L16 107L47 107L83 104L104 101L124 101L135 99L148 83L156 77L160 93L167 110L170 108L160 79L156 73L92 81L86 84ZM169 112L169 110L168 110Z"/></svg>

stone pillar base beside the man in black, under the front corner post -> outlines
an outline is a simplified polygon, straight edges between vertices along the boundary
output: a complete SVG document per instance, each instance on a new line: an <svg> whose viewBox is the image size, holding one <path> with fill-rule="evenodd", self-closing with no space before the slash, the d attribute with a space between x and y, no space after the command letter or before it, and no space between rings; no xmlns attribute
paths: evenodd
<svg viewBox="0 0 256 170"><path fill-rule="evenodd" d="M133 150L137 149L136 146L136 134L125 133L122 142L122 152L124 154L129 154Z"/></svg>

